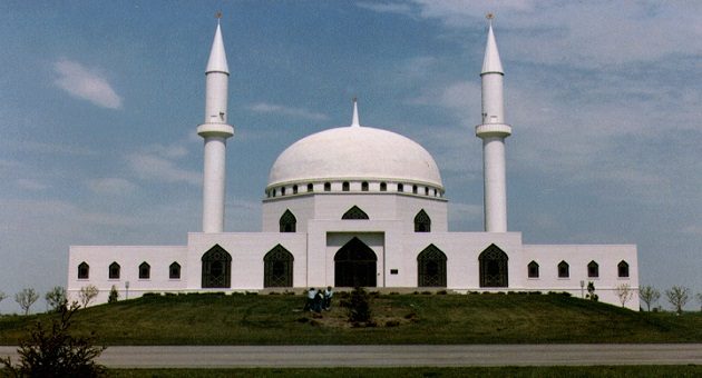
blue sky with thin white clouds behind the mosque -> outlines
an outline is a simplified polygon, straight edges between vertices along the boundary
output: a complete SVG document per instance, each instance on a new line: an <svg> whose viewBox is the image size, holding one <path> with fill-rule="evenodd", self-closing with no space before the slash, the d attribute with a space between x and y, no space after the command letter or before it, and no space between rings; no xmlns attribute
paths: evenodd
<svg viewBox="0 0 702 378"><path fill-rule="evenodd" d="M482 230L474 128L494 12L508 229L635 243L641 285L702 292L702 2L4 0L0 312L19 312L29 287L46 310L71 245L185 245L201 230L195 129L220 10L226 231L260 230L277 155L350 125L353 97L362 125L432 153L450 230Z"/></svg>

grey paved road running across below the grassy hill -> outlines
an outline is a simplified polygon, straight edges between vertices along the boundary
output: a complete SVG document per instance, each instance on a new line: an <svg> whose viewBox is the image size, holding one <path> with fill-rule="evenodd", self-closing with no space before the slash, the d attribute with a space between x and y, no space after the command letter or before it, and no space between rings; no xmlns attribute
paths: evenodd
<svg viewBox="0 0 702 378"><path fill-rule="evenodd" d="M0 347L0 356L16 348ZM702 344L109 347L114 368L702 365Z"/></svg>

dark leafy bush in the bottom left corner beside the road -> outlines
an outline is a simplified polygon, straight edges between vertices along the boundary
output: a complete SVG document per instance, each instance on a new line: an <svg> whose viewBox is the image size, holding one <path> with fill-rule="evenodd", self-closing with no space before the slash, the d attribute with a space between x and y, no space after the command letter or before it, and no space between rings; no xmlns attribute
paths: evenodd
<svg viewBox="0 0 702 378"><path fill-rule="evenodd" d="M37 322L29 339L17 349L19 365L13 366L10 357L0 358L6 372L14 377L98 377L105 374L105 367L95 362L105 350L92 345L95 335L74 337L69 332L70 318L78 308L77 302L61 307L61 316L53 318L50 329Z"/></svg>

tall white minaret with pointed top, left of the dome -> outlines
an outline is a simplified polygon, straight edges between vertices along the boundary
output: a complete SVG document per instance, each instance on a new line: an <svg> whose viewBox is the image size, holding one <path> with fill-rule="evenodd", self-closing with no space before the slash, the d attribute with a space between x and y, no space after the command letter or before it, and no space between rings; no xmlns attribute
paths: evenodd
<svg viewBox="0 0 702 378"><path fill-rule="evenodd" d="M224 231L226 139L234 135L234 128L226 123L230 69L222 41L220 17L217 14L217 30L205 70L205 122L197 127L197 135L205 139L203 232L207 233Z"/></svg>

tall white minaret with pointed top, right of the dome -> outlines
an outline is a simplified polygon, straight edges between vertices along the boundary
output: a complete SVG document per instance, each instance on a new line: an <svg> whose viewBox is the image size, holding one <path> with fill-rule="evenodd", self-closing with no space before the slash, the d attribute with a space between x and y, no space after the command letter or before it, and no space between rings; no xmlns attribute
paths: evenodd
<svg viewBox="0 0 702 378"><path fill-rule="evenodd" d="M493 33L493 18L488 13L488 38L480 72L482 86L482 125L476 136L482 139L485 231L507 232L507 185L505 175L505 138L511 127L505 122L503 99L503 63Z"/></svg>

